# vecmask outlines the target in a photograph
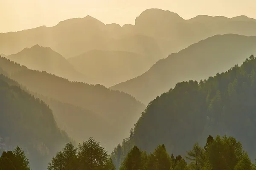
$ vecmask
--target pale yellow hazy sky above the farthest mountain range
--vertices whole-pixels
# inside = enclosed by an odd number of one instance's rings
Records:
[[[0,32],[55,26],[87,15],[105,24],[134,24],[147,8],[174,11],[184,19],[198,14],[256,18],[256,0],[0,0]]]

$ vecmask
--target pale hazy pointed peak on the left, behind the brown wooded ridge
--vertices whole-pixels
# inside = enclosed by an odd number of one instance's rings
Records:
[[[67,59],[49,47],[34,45],[31,48],[24,48],[17,54],[9,55],[8,58],[30,69],[47,71],[71,81],[88,81],[83,74],[73,68]]]

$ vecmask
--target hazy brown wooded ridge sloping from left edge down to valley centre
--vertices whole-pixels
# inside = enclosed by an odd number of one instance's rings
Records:
[[[29,91],[56,100],[56,102],[47,102],[47,100],[46,102],[52,106],[57,117],[62,114],[61,112],[64,112],[64,108],[67,108],[67,110],[63,114],[70,114],[71,117],[80,114],[79,117],[84,117],[85,119],[85,115],[81,114],[90,115],[95,113],[96,115],[87,117],[88,121],[92,121],[90,125],[95,126],[90,128],[100,129],[97,136],[101,134],[102,137],[105,137],[101,142],[106,145],[108,150],[111,150],[115,144],[121,142],[120,140],[125,137],[125,132],[129,132],[145,108],[145,105],[129,94],[113,91],[102,85],[70,82],[45,71],[30,70],[3,57],[0,58],[0,68],[9,74],[12,79],[26,86]],[[75,106],[79,106],[83,110],[79,111],[79,108],[73,110]],[[69,112],[72,110],[76,111],[76,113]],[[93,120],[97,116],[101,119],[94,122]],[[65,122],[69,122],[71,118],[64,116],[62,119],[65,119]],[[102,120],[104,120],[105,124],[101,124]],[[73,122],[69,122],[68,126],[77,131],[76,134],[70,134],[70,136],[77,136],[77,133],[80,133],[81,138],[79,140],[82,138],[86,140],[88,134],[91,134],[89,133],[90,128],[76,129],[79,126],[75,127]],[[117,126],[118,128],[116,128]],[[87,125],[82,127],[85,128]],[[88,133],[86,133],[87,131]],[[102,134],[102,132],[105,133]]]

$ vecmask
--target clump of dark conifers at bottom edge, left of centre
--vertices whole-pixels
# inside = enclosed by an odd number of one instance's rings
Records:
[[[48,170],[115,170],[108,152],[92,137],[74,147],[67,143],[48,164]]]

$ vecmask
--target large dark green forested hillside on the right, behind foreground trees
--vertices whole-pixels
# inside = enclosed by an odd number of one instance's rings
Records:
[[[200,82],[178,82],[150,102],[130,137],[116,150],[135,144],[153,152],[165,144],[168,153],[185,155],[192,143],[204,144],[209,134],[234,136],[251,158],[256,146],[256,58]]]

